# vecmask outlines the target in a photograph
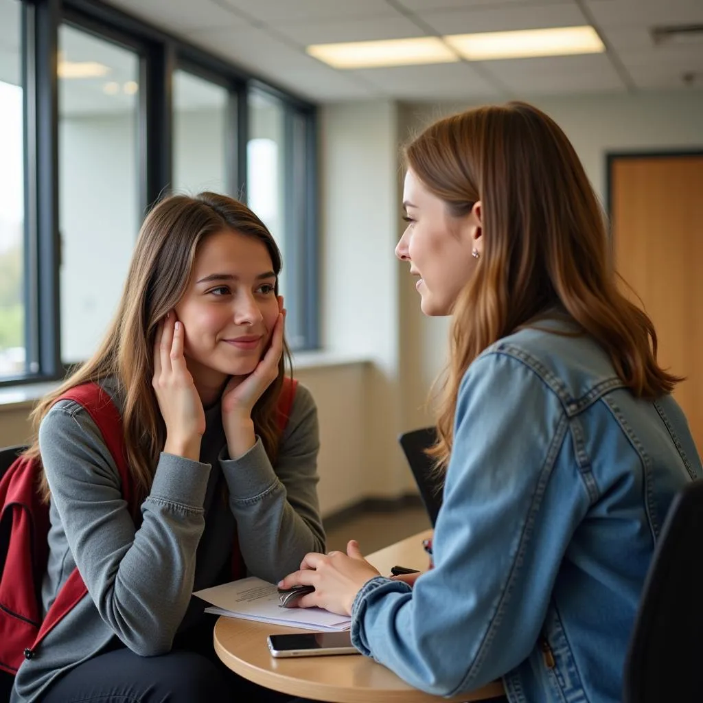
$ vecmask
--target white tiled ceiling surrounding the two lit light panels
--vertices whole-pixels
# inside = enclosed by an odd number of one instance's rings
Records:
[[[703,25],[703,0],[112,0],[316,101],[437,100],[703,86],[703,42],[657,46],[659,25]],[[336,41],[593,24],[605,54],[335,70]]]

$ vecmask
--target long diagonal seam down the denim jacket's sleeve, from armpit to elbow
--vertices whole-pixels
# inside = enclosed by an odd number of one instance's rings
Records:
[[[549,482],[549,478],[554,469],[555,460],[557,456],[559,456],[559,450],[566,437],[568,425],[568,418],[564,414],[562,415],[562,418],[557,424],[553,440],[550,444],[549,451],[547,453],[542,470],[540,472],[537,486],[534,490],[534,493],[532,494],[531,504],[527,512],[527,517],[525,518],[524,524],[522,526],[522,534],[520,536],[520,541],[517,545],[515,557],[513,557],[512,560],[510,574],[508,575],[508,579],[505,583],[505,586],[503,586],[501,598],[498,602],[498,605],[496,605],[496,609],[491,616],[491,620],[489,621],[488,626],[486,627],[486,633],[484,634],[482,642],[479,645],[478,652],[474,658],[474,661],[472,662],[472,664],[470,664],[469,669],[465,673],[465,676],[463,676],[463,678],[461,679],[459,685],[455,688],[455,690],[453,690],[453,692],[451,692],[450,695],[458,695],[463,690],[469,688],[471,682],[479,675],[482,664],[484,663],[484,659],[488,654],[489,647],[496,636],[496,631],[501,626],[501,623],[503,621],[503,611],[505,610],[505,601],[510,598],[512,588],[515,587],[517,574],[518,572],[520,572],[520,567],[522,567],[524,553],[525,550],[527,550],[527,546],[529,544],[532,531],[534,529],[535,515],[541,505],[542,498],[544,497],[544,494],[546,492],[546,487]]]

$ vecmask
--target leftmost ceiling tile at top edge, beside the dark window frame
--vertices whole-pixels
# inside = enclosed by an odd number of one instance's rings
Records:
[[[172,32],[246,24],[246,20],[212,0],[197,3],[189,0],[112,0],[111,4]]]

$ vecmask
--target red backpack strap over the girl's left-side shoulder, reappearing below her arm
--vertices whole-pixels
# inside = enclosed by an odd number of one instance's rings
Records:
[[[110,454],[112,454],[112,458],[117,464],[117,470],[120,472],[122,496],[127,501],[130,512],[134,515],[134,505],[132,505],[134,490],[131,484],[131,476],[129,475],[127,455],[124,451],[122,417],[112,402],[110,395],[97,383],[86,383],[68,390],[57,399],[57,401],[59,400],[76,401],[83,406],[91,416],[93,423],[97,425],[98,430],[103,435],[105,445],[110,450]],[[54,600],[46,613],[46,617],[39,628],[37,639],[32,645],[32,650],[36,649],[41,640],[58,625],[86,593],[88,593],[88,588],[86,588],[81,574],[79,574],[77,568],[73,569],[56,595],[56,600]],[[25,656],[27,656],[27,652],[25,652]]]

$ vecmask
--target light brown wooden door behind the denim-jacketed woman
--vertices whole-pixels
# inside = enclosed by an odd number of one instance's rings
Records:
[[[703,455],[703,155],[610,159],[614,250],[659,338]],[[632,299],[632,298],[631,298]]]

